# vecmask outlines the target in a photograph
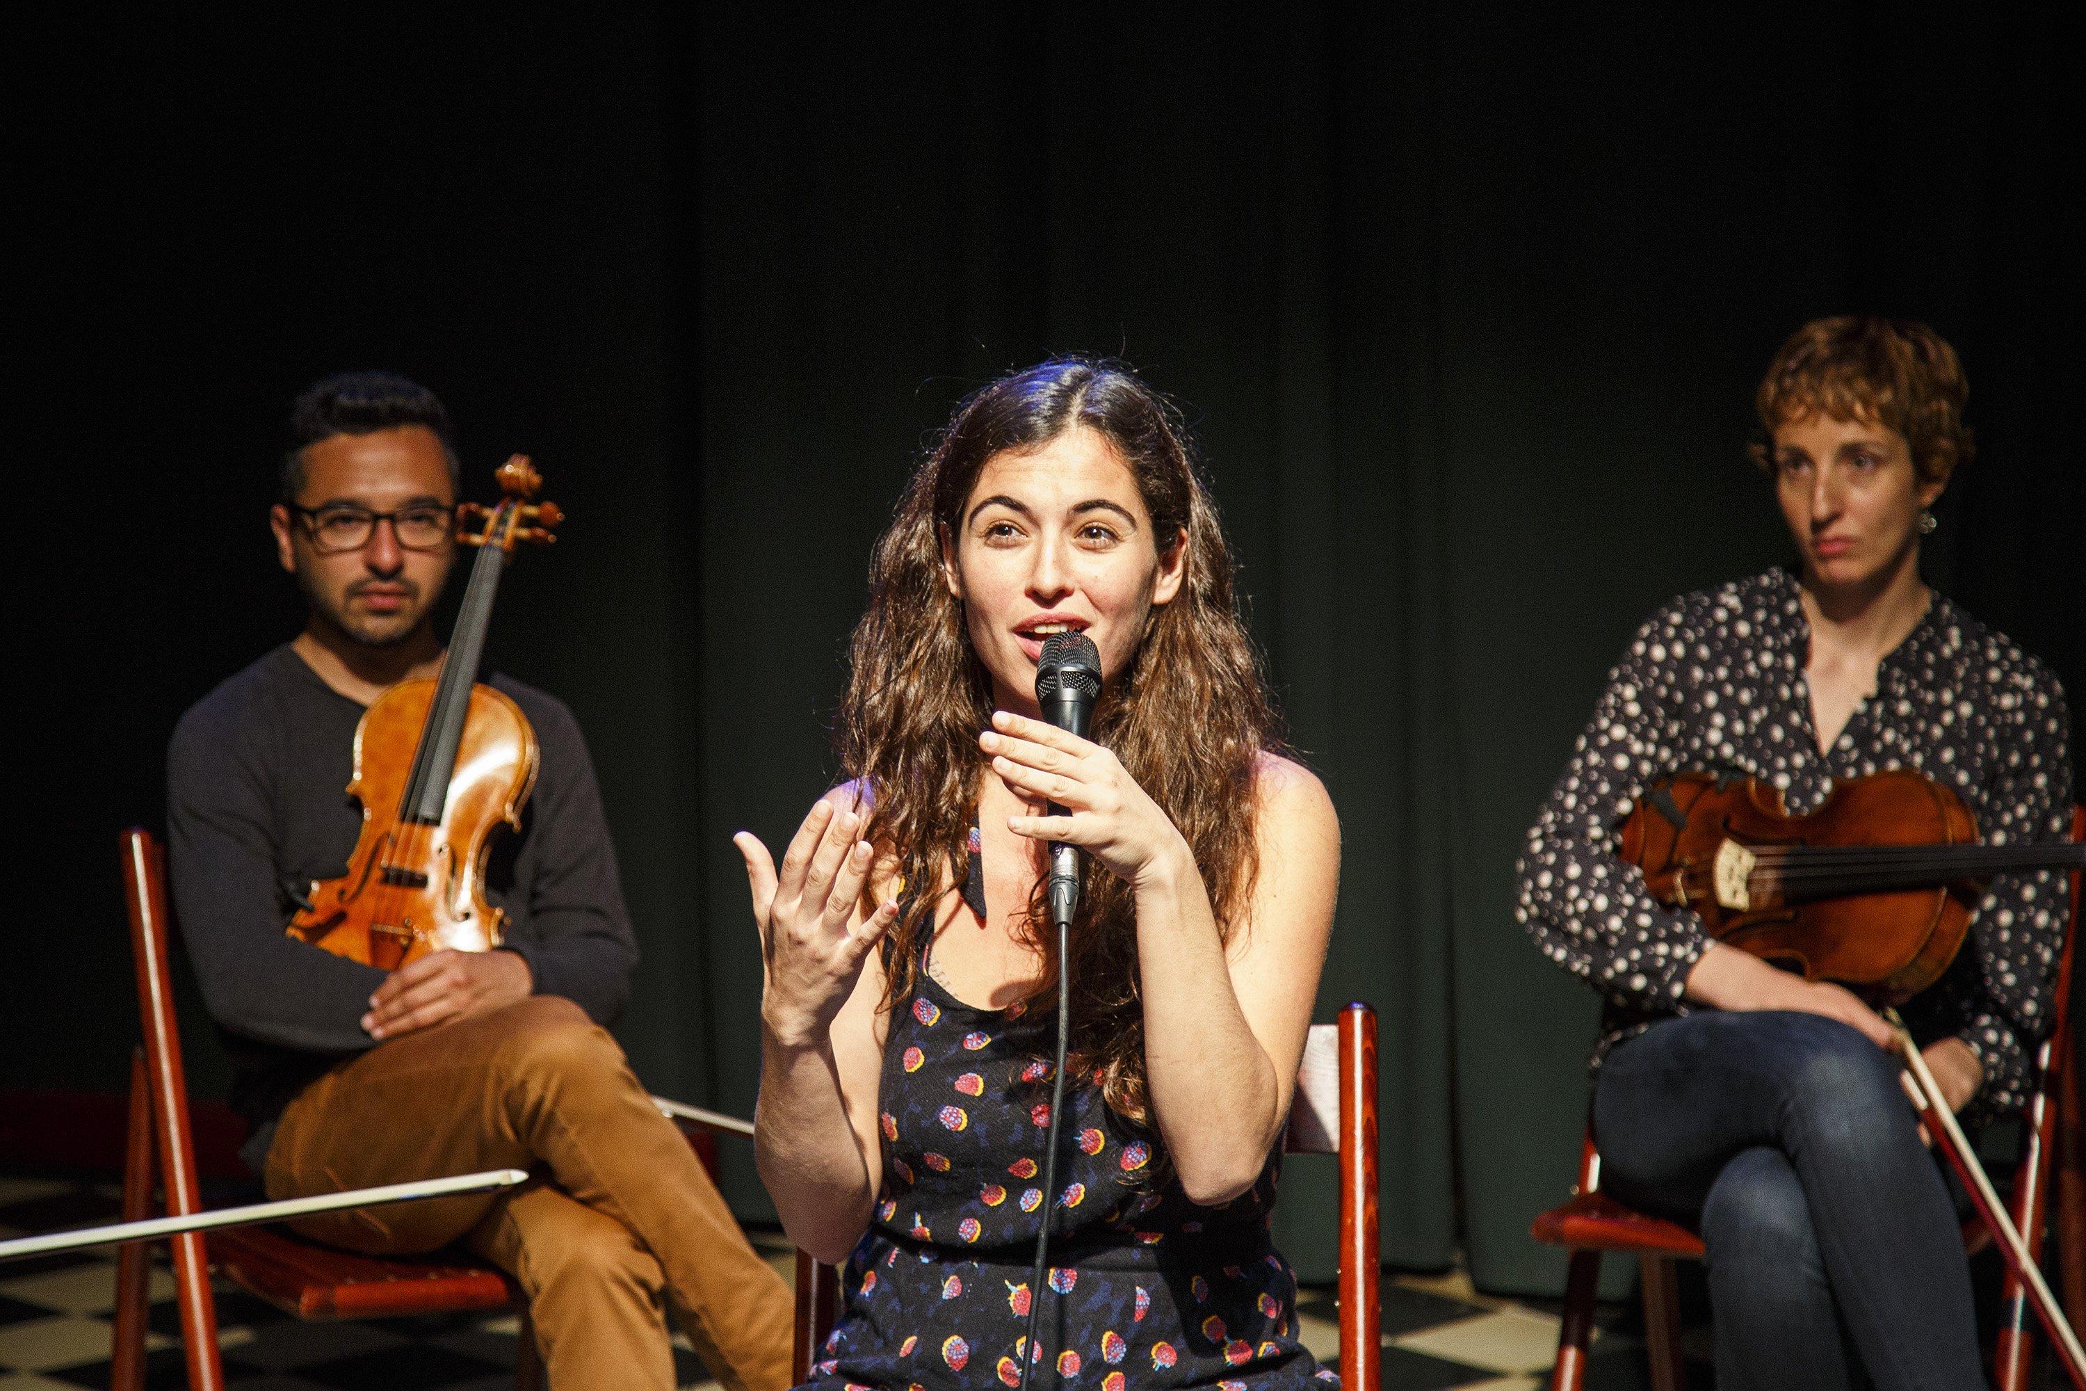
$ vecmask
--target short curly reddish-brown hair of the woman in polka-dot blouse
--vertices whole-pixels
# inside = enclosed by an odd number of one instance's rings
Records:
[[[1946,484],[1973,453],[1963,402],[1969,380],[1948,340],[1925,323],[1877,315],[1813,319],[1775,350],[1754,405],[1761,436],[1746,450],[1773,465],[1779,425],[1806,415],[1861,419],[1905,436],[1921,484]]]

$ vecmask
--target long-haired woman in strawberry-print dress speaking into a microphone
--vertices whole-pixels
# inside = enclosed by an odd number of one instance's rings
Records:
[[[1072,630],[1101,655],[1091,738],[1035,699]],[[876,546],[851,665],[851,782],[780,870],[738,836],[759,1170],[845,1264],[811,1385],[1016,1385],[1024,1356],[1037,1387],[1331,1381],[1268,1210],[1339,828],[1281,755],[1179,415],[1085,361],[970,396]],[[1049,840],[1085,861],[1056,1193]]]

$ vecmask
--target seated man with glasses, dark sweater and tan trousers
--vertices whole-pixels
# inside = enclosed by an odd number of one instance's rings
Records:
[[[315,1218],[371,1253],[463,1241],[513,1272],[559,1391],[676,1385],[672,1316],[732,1391],[789,1385],[791,1295],[701,1162],[647,1101],[605,1024],[636,941],[595,770],[559,701],[480,674],[528,715],[542,763],[494,845],[499,951],[390,976],[284,932],[311,880],[346,872],[355,728],[432,678],[432,611],[457,546],[448,415],[390,373],[305,392],[269,513],[305,630],[190,709],[167,757],[171,878],[202,997],[234,1064],[246,1157],[269,1197],[517,1166],[547,1182]]]

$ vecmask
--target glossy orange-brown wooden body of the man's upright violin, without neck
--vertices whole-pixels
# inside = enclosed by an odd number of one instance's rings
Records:
[[[355,726],[355,780],[363,830],[338,880],[311,886],[311,907],[290,934],[334,955],[396,970],[430,951],[492,951],[505,913],[486,903],[492,832],[522,830],[540,751],[522,707],[492,686],[471,686],[442,820],[386,817],[401,805],[413,749],[428,724],[436,682],[401,682]]]

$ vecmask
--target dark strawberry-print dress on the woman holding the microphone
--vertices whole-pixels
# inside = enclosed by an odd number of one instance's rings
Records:
[[[918,972],[884,1045],[884,1187],[807,1385],[1014,1387],[1026,1351],[1037,1391],[1337,1387],[1295,1339],[1295,1274],[1268,1241],[1281,1151],[1252,1191],[1197,1207],[1154,1178],[1158,1137],[1068,1078],[1058,1193],[1043,1193],[1056,1022],[1053,1007],[972,1009]]]

